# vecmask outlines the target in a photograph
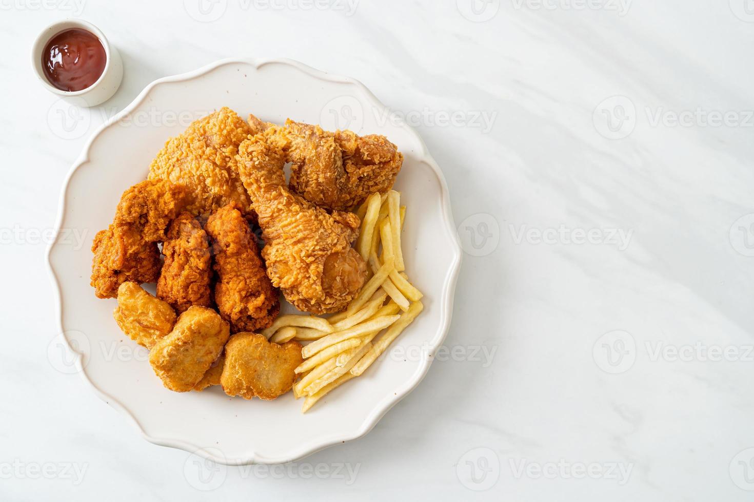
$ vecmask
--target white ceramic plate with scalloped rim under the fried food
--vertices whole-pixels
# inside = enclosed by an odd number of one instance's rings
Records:
[[[220,388],[167,391],[146,349],[113,321],[115,300],[98,300],[89,285],[91,240],[112,220],[121,193],[146,178],[168,137],[222,106],[244,118],[253,112],[277,123],[291,117],[329,130],[383,134],[406,157],[396,183],[408,206],[403,249],[406,270],[425,294],[425,310],[394,342],[392,356],[305,415],[292,394],[265,402],[229,398]],[[88,141],[67,178],[57,225],[48,260],[60,294],[60,331],[80,354],[76,370],[147,440],[223,464],[294,461],[371,430],[427,373],[449,328],[461,264],[446,182],[421,138],[390,120],[388,109],[359,82],[290,60],[222,60],[150,84]],[[86,233],[86,245],[73,245],[73,232]],[[285,434],[270,434],[273,429]]]

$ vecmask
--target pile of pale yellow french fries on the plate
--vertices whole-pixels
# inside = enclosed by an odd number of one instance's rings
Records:
[[[282,315],[262,331],[275,343],[308,342],[304,362],[296,368],[301,379],[293,385],[296,399],[305,397],[302,412],[364,373],[424,308],[421,292],[404,272],[400,232],[406,207],[400,205],[400,193],[372,193],[357,214],[356,248],[369,263],[370,277],[348,309],[329,318]]]

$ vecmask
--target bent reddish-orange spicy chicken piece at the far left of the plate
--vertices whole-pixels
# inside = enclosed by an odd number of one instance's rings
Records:
[[[185,187],[167,181],[142,181],[123,193],[112,224],[94,237],[90,284],[97,297],[115,298],[125,281],[157,281],[162,266],[157,242],[187,198]]]

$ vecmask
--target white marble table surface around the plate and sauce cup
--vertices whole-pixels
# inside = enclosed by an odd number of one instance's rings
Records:
[[[69,16],[125,76],[66,139],[29,48]],[[0,499],[751,500],[751,0],[2,0],[0,45]],[[370,434],[201,491],[51,364],[44,252],[87,132],[228,56],[404,114],[467,252],[445,357]]]

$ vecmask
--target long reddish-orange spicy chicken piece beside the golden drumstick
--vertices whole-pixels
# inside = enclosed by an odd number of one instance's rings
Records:
[[[260,330],[280,313],[280,294],[272,287],[259,257],[259,246],[241,208],[228,204],[205,226],[213,239],[215,302],[231,331]]]

